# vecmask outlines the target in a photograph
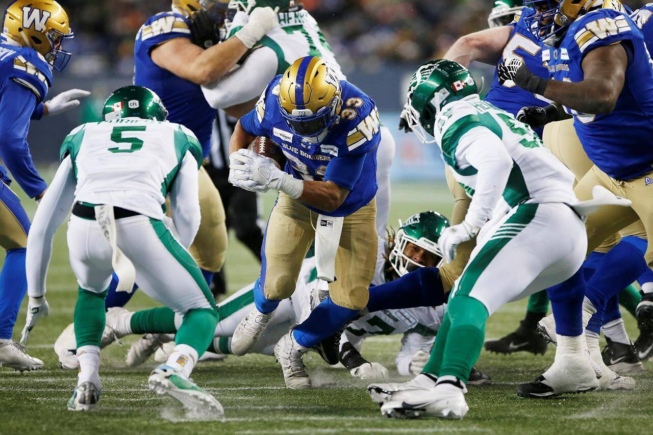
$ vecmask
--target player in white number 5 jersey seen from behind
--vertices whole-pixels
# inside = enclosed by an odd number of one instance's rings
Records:
[[[137,279],[147,295],[183,317],[174,351],[151,372],[150,389],[185,408],[223,413],[219,402],[189,379],[218,321],[208,285],[187,251],[200,221],[202,148],[189,129],[165,122],[166,116],[150,89],[114,91],[104,103],[104,121],[82,124],[63,141],[61,165],[34,217],[27,240],[28,292],[30,300],[45,304],[52,238],[72,208],[68,248],[79,283],[74,312],[79,374],[68,401],[72,411],[92,410],[100,398],[104,297],[115,271],[121,284]],[[167,227],[162,211],[168,195],[176,231]],[[27,324],[33,327],[39,317],[28,311]]]

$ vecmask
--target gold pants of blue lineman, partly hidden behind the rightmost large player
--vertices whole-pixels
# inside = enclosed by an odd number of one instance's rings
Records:
[[[573,120],[556,121],[547,124],[544,127],[542,138],[550,152],[573,172],[577,183],[594,166],[594,163],[582,149],[581,141],[576,135],[576,129],[573,127]],[[607,252],[619,242],[621,237],[626,236],[646,238],[646,231],[642,221],[637,219],[628,227],[620,229],[618,233],[609,234],[603,243],[596,248],[596,251]]]

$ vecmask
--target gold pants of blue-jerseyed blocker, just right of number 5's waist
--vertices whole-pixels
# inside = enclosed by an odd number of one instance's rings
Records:
[[[218,272],[225,263],[227,252],[225,208],[206,169],[201,167],[197,175],[202,219],[189,251],[200,268]]]

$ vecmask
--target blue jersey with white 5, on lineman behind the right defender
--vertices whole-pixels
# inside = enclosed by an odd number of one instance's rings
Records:
[[[499,63],[503,61],[504,57],[521,57],[526,62],[530,71],[542,78],[549,78],[549,70],[544,64],[540,53],[541,46],[539,41],[535,39],[526,24],[524,24],[524,19],[533,14],[534,10],[528,7],[523,8],[515,14],[515,20],[509,24],[513,27],[513,30],[510,33],[507,44],[503,48]],[[485,101],[513,115],[517,115],[519,109],[524,106],[547,106],[552,103],[544,97],[529,91],[524,91],[524,89],[515,85],[512,80],[504,84],[499,84],[496,70],[494,71],[492,86],[487,95],[485,95]],[[544,127],[535,129],[535,133],[539,137],[542,137],[543,130]]]

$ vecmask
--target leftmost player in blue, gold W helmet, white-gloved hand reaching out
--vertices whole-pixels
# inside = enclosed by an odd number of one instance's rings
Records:
[[[61,71],[71,54],[63,49],[72,38],[68,16],[54,0],[16,0],[8,5],[0,35],[0,157],[30,198],[37,202],[47,185],[34,167],[27,145],[30,119],[54,115],[80,104],[89,92],[65,91],[46,101],[52,69]],[[0,272],[0,365],[37,370],[43,362],[14,342],[12,332],[27,291],[25,255],[29,218],[11,191],[11,179],[0,166],[0,246],[6,251]],[[41,305],[38,301],[33,306]],[[47,310],[47,307],[42,307]],[[27,331],[24,331],[25,337]],[[24,342],[24,339],[21,340]]]

